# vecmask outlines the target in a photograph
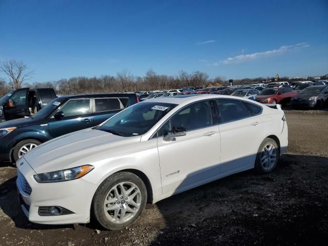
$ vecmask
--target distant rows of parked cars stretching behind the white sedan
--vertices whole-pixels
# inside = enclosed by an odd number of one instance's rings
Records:
[[[201,89],[183,88],[181,90],[151,91],[139,94],[140,100],[148,100],[157,97],[170,97],[183,94],[219,94],[244,97],[256,100],[262,104],[290,104],[293,108],[317,107],[321,108],[328,98],[328,81],[320,80],[298,81],[288,83],[286,81],[247,86],[223,86]]]

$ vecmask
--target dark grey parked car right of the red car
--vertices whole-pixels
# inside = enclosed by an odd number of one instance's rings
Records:
[[[328,86],[311,86],[300,91],[291,99],[291,106],[322,108],[328,100]]]

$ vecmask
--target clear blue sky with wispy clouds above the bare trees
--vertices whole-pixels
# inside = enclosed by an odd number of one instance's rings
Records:
[[[0,0],[0,61],[9,59],[23,60],[31,81],[124,69],[327,74],[328,1]]]

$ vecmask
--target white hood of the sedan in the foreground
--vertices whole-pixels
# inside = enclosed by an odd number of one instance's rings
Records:
[[[89,128],[45,142],[23,158],[36,173],[52,172],[127,153],[132,150],[129,146],[140,139],[141,136],[121,137]]]

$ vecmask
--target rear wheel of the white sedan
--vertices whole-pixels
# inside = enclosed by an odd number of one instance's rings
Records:
[[[265,138],[257,152],[255,170],[261,174],[272,172],[277,166],[278,158],[277,142],[272,138]]]

